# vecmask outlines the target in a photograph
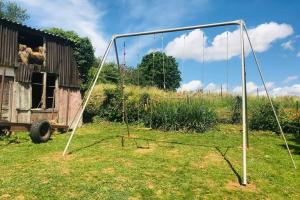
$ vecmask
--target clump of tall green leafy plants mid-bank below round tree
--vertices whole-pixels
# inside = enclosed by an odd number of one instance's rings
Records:
[[[196,100],[159,101],[146,112],[145,125],[155,129],[204,132],[217,123],[217,116]]]

